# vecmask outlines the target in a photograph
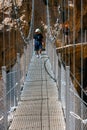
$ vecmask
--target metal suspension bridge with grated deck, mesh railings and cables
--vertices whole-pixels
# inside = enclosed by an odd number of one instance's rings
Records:
[[[5,64],[2,66],[0,130],[87,129],[87,98],[83,99],[84,95],[87,97],[87,93],[83,88],[82,70],[83,58],[86,57],[83,56],[83,50],[86,53],[87,42],[85,40],[84,43],[75,44],[74,32],[73,44],[63,46],[62,37],[62,40],[58,39],[62,46],[57,48],[55,39],[58,38],[60,29],[52,36],[48,3],[47,0],[46,48],[42,51],[41,58],[37,58],[33,47],[35,1],[32,0],[31,23],[28,36],[25,37],[20,24],[17,1],[13,0],[13,12],[24,46],[22,55],[17,53],[15,65],[9,72],[6,71]],[[73,12],[75,13],[75,10]],[[81,82],[77,80],[75,73],[75,56],[78,52],[76,48],[81,51]],[[79,86],[80,94],[76,86]]]

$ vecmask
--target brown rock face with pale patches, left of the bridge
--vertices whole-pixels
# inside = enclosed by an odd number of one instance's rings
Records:
[[[17,14],[15,10],[17,9]],[[14,65],[17,52],[22,54],[24,42],[19,29],[27,37],[31,18],[31,1],[18,0],[16,5],[12,0],[0,0],[0,72],[6,65],[7,71]],[[17,20],[20,19],[20,28]]]

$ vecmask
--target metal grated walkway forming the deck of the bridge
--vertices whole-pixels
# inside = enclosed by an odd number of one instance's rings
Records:
[[[56,83],[47,74],[42,58],[33,55],[21,94],[21,101],[9,130],[65,130],[61,103],[58,101]],[[49,60],[48,72],[53,76]]]

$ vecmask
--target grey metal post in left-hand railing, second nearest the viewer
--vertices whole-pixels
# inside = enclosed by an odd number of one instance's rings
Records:
[[[20,54],[17,53],[17,80],[18,80],[18,88],[17,88],[17,94],[18,94],[18,101],[20,101]]]

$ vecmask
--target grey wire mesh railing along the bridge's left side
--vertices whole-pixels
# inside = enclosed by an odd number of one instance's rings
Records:
[[[0,129],[7,130],[12,119],[13,113],[20,101],[20,94],[26,79],[27,70],[32,57],[32,41],[26,47],[24,53],[20,56],[17,53],[16,64],[6,72],[6,67],[2,67],[2,79],[0,81]]]

